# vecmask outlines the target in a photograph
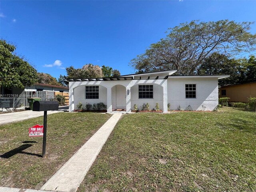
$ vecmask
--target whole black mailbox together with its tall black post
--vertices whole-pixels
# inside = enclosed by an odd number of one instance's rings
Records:
[[[33,111],[44,112],[44,135],[43,135],[42,158],[45,157],[45,150],[46,150],[47,111],[51,111],[51,110],[59,110],[59,103],[57,101],[35,101],[33,104]]]

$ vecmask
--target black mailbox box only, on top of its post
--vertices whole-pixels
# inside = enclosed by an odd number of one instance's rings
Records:
[[[35,101],[33,103],[33,111],[51,111],[59,110],[57,101]]]

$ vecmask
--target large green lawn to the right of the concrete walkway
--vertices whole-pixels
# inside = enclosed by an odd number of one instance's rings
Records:
[[[124,115],[84,191],[256,191],[256,113]]]

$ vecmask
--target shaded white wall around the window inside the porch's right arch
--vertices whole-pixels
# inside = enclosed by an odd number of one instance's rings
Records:
[[[143,85],[143,84],[140,84]],[[149,84],[147,84],[149,85]],[[149,103],[150,109],[156,109],[156,103],[159,104],[160,110],[163,109],[163,89],[162,86],[157,85],[157,84],[152,84],[153,85],[153,99],[139,99],[139,88],[138,85],[134,85],[131,87],[131,108],[133,110],[134,104],[137,104],[137,107],[141,109],[142,105],[144,103]]]

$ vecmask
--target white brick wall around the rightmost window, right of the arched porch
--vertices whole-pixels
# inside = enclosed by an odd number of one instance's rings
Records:
[[[171,110],[177,110],[180,105],[185,109],[190,105],[194,110],[214,110],[218,105],[218,78],[169,78],[168,103]],[[196,84],[196,98],[186,98],[185,84]]]

